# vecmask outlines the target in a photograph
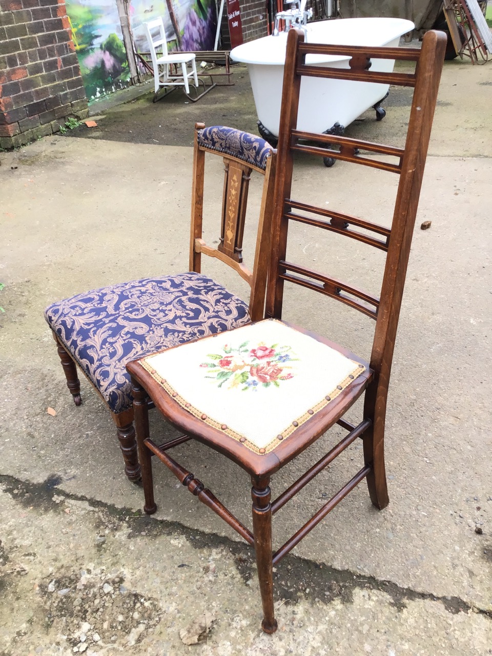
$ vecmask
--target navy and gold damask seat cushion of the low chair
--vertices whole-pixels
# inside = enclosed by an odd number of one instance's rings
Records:
[[[114,413],[133,403],[127,362],[250,321],[243,300],[192,272],[78,294],[45,318]]]

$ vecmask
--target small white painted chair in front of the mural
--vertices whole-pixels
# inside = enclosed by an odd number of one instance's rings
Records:
[[[152,68],[154,68],[154,91],[157,94],[161,87],[184,87],[187,94],[190,93],[188,80],[193,77],[195,87],[198,87],[198,75],[196,72],[195,55],[192,52],[167,52],[167,39],[164,23],[161,17],[144,23],[147,41],[150,47]],[[182,74],[171,75],[171,64],[177,67],[180,64]],[[186,64],[191,64],[192,70],[188,73]]]

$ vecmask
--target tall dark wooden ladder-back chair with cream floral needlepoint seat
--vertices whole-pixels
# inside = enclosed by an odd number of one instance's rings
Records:
[[[302,32],[289,31],[280,121],[284,129],[277,151],[272,260],[266,294],[267,318],[127,365],[133,378],[145,512],[151,514],[156,508],[150,458],[154,453],[200,501],[236,529],[247,543],[255,546],[263,606],[262,628],[267,633],[277,628],[273,566],[362,480],[367,480],[371,501],[377,508],[388,504],[383,453],[386,396],[445,45],[445,35],[436,31],[426,33],[420,51],[304,43]],[[326,55],[327,59],[313,66],[306,63],[306,56],[311,53]],[[348,68],[329,65],[329,56],[340,53],[346,54]],[[415,72],[371,71],[371,58],[416,62]],[[325,137],[326,146],[305,144],[306,140],[319,142],[320,136],[296,129],[300,81],[304,75],[415,87],[405,148],[331,134]],[[340,146],[340,151],[330,144]],[[398,174],[400,182],[391,230],[293,199],[291,181],[296,152],[320,157],[329,155]],[[387,163],[373,154],[393,155],[396,163]],[[308,213],[317,216],[310,218]],[[384,251],[386,265],[380,298],[287,262],[291,220],[358,239]],[[375,319],[370,362],[325,337],[281,321],[286,281],[340,300]],[[362,419],[352,424],[344,415],[364,392]],[[186,436],[160,447],[150,438],[148,396],[174,426],[186,432]],[[272,474],[334,424],[345,429],[346,436],[271,501]],[[190,438],[223,453],[250,474],[253,531],[232,516],[194,474],[169,456],[169,448]],[[272,515],[358,438],[363,440],[363,466],[295,535],[272,552]]]

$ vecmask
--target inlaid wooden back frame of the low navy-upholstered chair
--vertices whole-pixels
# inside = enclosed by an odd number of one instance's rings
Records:
[[[190,270],[201,272],[201,255],[216,258],[236,271],[251,287],[249,314],[253,321],[263,318],[270,253],[270,217],[274,199],[274,179],[276,169],[276,150],[270,148],[270,156],[260,166],[254,161],[243,161],[234,154],[209,148],[199,142],[200,131],[205,129],[203,123],[195,124],[193,188],[192,188],[192,222],[190,234]],[[258,137],[258,141],[261,141]],[[268,146],[268,144],[266,144]],[[214,248],[202,238],[203,230],[203,191],[205,185],[205,154],[220,155],[224,159],[224,192],[220,237],[218,247]],[[243,235],[247,210],[247,199],[251,172],[258,171],[264,176],[263,192],[256,237],[255,260],[253,271],[243,264]],[[268,216],[268,220],[265,217]]]

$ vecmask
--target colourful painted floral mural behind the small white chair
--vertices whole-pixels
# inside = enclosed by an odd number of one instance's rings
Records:
[[[123,6],[128,14],[121,20],[130,28],[136,52],[148,52],[143,24],[159,16],[169,50],[213,49],[215,0],[131,0]],[[96,100],[127,87],[133,52],[125,51],[116,0],[67,0],[66,7],[87,98]]]

